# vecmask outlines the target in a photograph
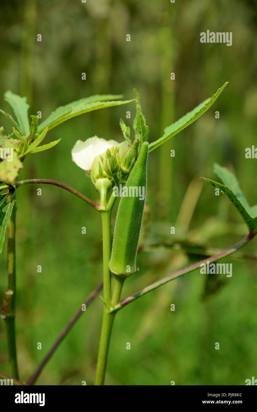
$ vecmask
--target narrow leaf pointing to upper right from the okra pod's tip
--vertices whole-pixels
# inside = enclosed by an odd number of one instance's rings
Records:
[[[164,130],[164,135],[149,145],[149,152],[152,152],[152,150],[162,145],[164,142],[166,142],[166,140],[175,136],[175,134],[185,129],[185,127],[189,126],[189,124],[193,123],[196,119],[203,115],[203,113],[205,113],[206,110],[208,110],[208,108],[210,108],[210,106],[215,102],[215,100],[220,95],[222,90],[224,90],[227,84],[228,82],[223,84],[223,86],[216,91],[213,97],[208,98],[203,103],[199,104],[196,108],[194,108],[194,110],[187,113],[185,116],[181,117],[181,119],[179,119],[177,122],[171,124],[171,126],[166,127],[166,129]]]

